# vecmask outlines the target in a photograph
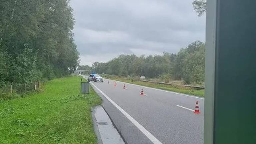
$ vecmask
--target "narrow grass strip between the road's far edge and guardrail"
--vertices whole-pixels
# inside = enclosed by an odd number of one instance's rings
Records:
[[[143,81],[133,81],[133,82],[131,82],[131,80],[124,79],[124,78],[118,78],[118,77],[112,77],[110,79],[117,80],[117,81],[122,81],[122,82],[127,82],[127,83],[132,83],[132,84],[137,84],[137,85],[142,85],[142,86],[147,86],[147,87],[152,87],[152,88],[157,88],[157,89],[163,89],[163,90],[168,90],[168,91],[174,91],[174,92],[179,92],[179,93],[204,97],[204,89],[196,90],[196,89],[193,89],[193,88],[187,88],[187,87],[182,87],[182,86],[156,84],[156,83],[143,82]]]

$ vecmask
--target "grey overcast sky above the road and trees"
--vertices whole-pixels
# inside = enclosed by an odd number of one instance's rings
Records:
[[[205,42],[205,15],[193,0],[71,0],[80,65],[107,62],[120,54],[177,53]]]

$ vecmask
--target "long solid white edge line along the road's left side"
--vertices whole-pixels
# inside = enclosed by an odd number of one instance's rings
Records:
[[[98,87],[91,83],[105,98],[107,98],[121,113],[123,113],[149,140],[154,144],[162,144],[156,137],[154,137],[148,130],[146,130],[140,123],[138,123],[132,116],[124,111],[119,105],[112,101],[105,93],[103,93]]]

